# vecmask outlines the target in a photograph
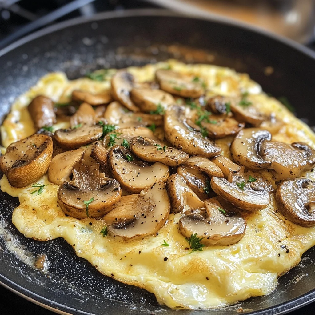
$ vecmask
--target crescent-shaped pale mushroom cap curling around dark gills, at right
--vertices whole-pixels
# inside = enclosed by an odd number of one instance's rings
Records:
[[[236,163],[249,169],[266,169],[271,165],[271,162],[261,156],[261,146],[270,140],[271,134],[267,130],[243,129],[230,146],[231,155]]]

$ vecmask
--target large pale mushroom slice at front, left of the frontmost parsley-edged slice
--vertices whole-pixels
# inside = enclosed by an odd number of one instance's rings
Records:
[[[168,219],[169,210],[165,185],[159,181],[140,195],[123,196],[104,220],[109,235],[127,241],[156,234]]]

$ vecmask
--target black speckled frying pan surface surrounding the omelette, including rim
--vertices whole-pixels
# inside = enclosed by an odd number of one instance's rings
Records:
[[[156,9],[66,21],[0,51],[0,115],[3,119],[14,99],[47,72],[64,71],[72,79],[97,68],[140,66],[170,57],[247,72],[264,91],[286,96],[299,117],[315,124],[312,51],[235,22]],[[266,67],[273,72],[266,72]],[[1,283],[61,314],[232,315],[241,307],[249,314],[273,315],[315,299],[315,250],[310,249],[267,296],[218,310],[171,310],[143,289],[102,276],[61,238],[48,242],[24,238],[11,223],[17,198],[1,192],[0,200]],[[40,254],[47,255],[47,272],[32,267]]]

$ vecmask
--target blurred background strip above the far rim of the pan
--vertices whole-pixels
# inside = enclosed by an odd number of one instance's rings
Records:
[[[239,20],[315,49],[315,0],[0,0],[0,48],[73,17],[137,8]]]

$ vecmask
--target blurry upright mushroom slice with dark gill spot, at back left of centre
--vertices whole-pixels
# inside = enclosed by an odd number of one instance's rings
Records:
[[[121,102],[132,112],[139,112],[139,107],[135,106],[130,98],[130,91],[134,87],[134,77],[131,73],[120,70],[112,77],[112,93],[115,100]]]

